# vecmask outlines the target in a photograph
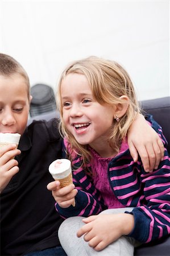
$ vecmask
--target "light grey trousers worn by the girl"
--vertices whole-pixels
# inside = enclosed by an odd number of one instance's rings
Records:
[[[131,212],[133,208],[118,208],[103,210],[100,214],[124,213],[126,210]],[[68,256],[133,256],[134,247],[140,243],[134,238],[122,236],[117,241],[110,243],[105,249],[96,251],[84,241],[84,237],[77,237],[77,231],[84,225],[84,217],[67,218],[59,228],[59,240],[61,246]]]

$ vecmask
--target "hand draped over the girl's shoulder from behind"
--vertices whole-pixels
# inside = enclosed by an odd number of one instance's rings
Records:
[[[139,153],[146,172],[157,169],[164,157],[164,144],[142,114],[138,114],[132,123],[128,131],[127,142],[134,162],[138,161]]]

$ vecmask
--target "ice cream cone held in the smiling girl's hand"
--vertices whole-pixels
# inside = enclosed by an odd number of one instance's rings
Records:
[[[68,159],[57,159],[49,166],[49,172],[53,179],[60,181],[60,188],[73,184],[71,161]],[[75,206],[75,200],[72,204]]]

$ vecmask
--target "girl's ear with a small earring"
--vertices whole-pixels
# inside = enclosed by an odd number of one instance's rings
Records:
[[[128,97],[125,95],[122,95],[121,97],[119,97],[119,99],[122,100],[122,103],[118,103],[117,105],[115,105],[115,112],[114,112],[115,119],[123,117],[123,115],[125,115],[128,109]]]

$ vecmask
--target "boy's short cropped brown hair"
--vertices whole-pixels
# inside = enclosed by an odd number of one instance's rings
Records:
[[[8,77],[14,75],[15,73],[22,76],[26,80],[28,88],[28,99],[30,100],[30,80],[27,72],[13,57],[4,53],[0,53],[0,75]]]

